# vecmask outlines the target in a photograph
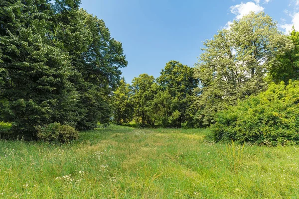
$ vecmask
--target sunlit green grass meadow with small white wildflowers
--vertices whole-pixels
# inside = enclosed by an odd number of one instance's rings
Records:
[[[206,133],[112,125],[64,145],[2,140],[0,198],[299,198],[298,146],[246,145],[233,172]]]

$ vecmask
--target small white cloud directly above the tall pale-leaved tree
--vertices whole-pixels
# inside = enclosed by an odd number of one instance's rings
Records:
[[[299,0],[298,0],[299,1]],[[236,14],[236,19],[240,19],[242,18],[244,15],[249,14],[251,11],[254,11],[255,13],[261,12],[264,10],[264,7],[260,6],[258,4],[259,0],[256,0],[257,4],[254,2],[247,2],[247,3],[243,3],[241,2],[241,4],[238,5],[234,5],[231,6],[231,12],[233,14]]]

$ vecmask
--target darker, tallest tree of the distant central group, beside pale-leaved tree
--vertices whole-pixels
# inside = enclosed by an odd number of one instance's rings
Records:
[[[160,107],[162,109],[168,107],[168,110],[163,110],[168,117],[168,126],[181,127],[181,123],[189,119],[187,109],[192,102],[193,90],[198,86],[198,79],[193,77],[193,68],[178,61],[168,62],[160,74],[157,83],[164,94],[160,93],[159,96],[171,100],[170,106],[164,104]]]

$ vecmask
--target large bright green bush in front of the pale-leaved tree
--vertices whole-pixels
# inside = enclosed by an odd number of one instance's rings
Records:
[[[211,130],[215,141],[299,144],[299,81],[273,83],[258,96],[220,111]]]

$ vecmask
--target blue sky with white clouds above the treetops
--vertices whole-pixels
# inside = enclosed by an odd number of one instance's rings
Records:
[[[299,0],[82,0],[123,43],[128,83],[142,73],[157,78],[170,60],[193,66],[217,30],[250,11],[265,11],[288,32],[299,30]]]

